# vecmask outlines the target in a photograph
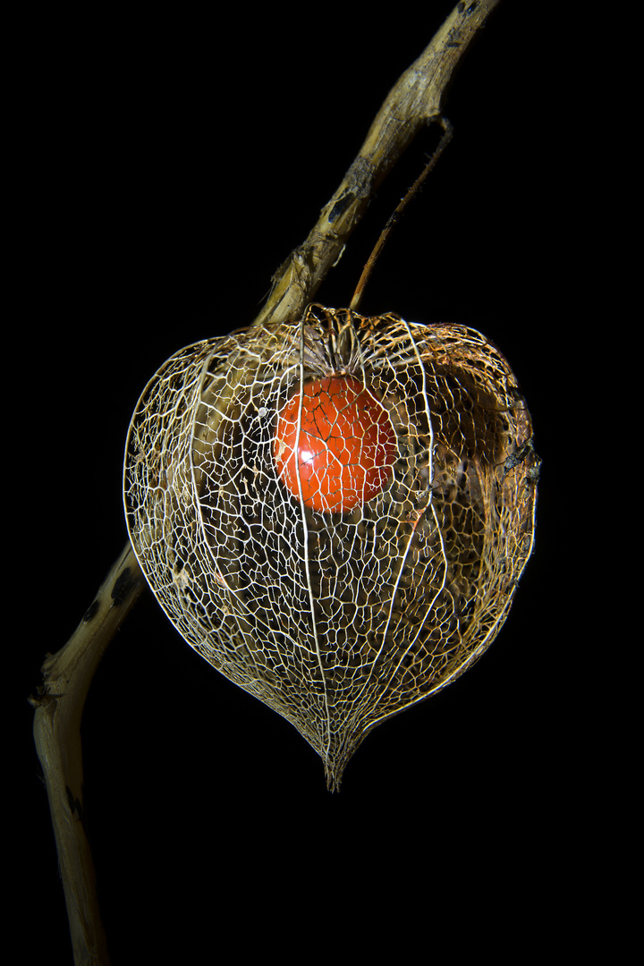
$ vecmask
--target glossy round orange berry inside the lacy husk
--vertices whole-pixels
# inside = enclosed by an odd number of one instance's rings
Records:
[[[376,497],[396,456],[396,435],[378,399],[350,376],[306,383],[303,392],[298,463],[305,505],[342,513]],[[273,441],[280,479],[297,498],[299,404],[297,392],[279,414]]]

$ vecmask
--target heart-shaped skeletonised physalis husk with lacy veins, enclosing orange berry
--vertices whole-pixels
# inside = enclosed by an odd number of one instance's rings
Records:
[[[154,375],[126,446],[132,546],[182,637],[336,788],[498,633],[533,545],[531,437],[479,332],[311,305]]]

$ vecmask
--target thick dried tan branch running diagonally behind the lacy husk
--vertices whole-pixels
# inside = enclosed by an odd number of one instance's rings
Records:
[[[440,119],[452,74],[498,2],[457,4],[432,42],[401,76],[318,223],[273,276],[271,293],[253,325],[268,320],[285,322],[301,314],[396,160],[420,128]],[[83,824],[80,721],[98,663],[144,583],[127,544],[68,643],[57,654],[47,656],[39,696],[31,699],[76,966],[109,963]]]

